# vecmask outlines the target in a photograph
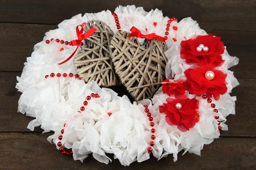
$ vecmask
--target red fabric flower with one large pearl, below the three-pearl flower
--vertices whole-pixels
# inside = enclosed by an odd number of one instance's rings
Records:
[[[208,80],[205,78],[207,71],[213,71],[214,78]],[[220,98],[220,94],[227,93],[227,74],[220,70],[216,70],[214,65],[208,64],[199,68],[189,68],[184,71],[187,78],[187,89],[190,94],[207,94],[207,96],[213,95],[215,100]]]

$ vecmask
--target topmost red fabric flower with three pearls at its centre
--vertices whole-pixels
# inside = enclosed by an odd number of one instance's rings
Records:
[[[200,44],[208,47],[209,51],[196,51]],[[186,63],[196,63],[199,66],[207,63],[221,66],[224,63],[221,54],[224,53],[225,48],[223,42],[221,42],[221,37],[197,36],[195,39],[181,41],[180,46],[180,58],[185,59]]]

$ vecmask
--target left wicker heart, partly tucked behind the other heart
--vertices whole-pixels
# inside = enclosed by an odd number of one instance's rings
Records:
[[[116,76],[110,57],[113,31],[106,23],[99,20],[88,21],[84,31],[92,27],[97,28],[97,31],[84,40],[81,51],[74,57],[76,71],[86,82],[94,80],[102,87],[119,85],[119,78]]]

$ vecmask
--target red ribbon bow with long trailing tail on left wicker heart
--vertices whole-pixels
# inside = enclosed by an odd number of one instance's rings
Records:
[[[81,30],[79,30],[79,26],[81,26]],[[78,25],[76,26],[76,35],[77,35],[77,40],[72,40],[71,44],[72,46],[77,45],[76,50],[79,48],[79,45],[81,44],[82,40],[87,39],[88,37],[90,37],[93,33],[95,33],[95,31],[97,30],[96,28],[90,28],[88,31],[86,31],[83,34],[84,31],[84,26],[85,23],[83,23],[82,25]],[[64,64],[65,62],[67,62],[68,60],[70,60],[73,55],[76,53],[76,50],[70,55],[70,57],[68,57],[67,59],[65,59],[63,62],[58,63],[58,65]]]

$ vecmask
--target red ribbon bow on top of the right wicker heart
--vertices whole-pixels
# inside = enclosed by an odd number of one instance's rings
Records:
[[[130,29],[130,31],[131,31],[131,34],[129,34],[127,37],[145,38],[147,40],[159,40],[159,41],[165,42],[164,37],[156,35],[155,33],[144,35],[140,32],[140,30],[138,28],[136,28],[134,26]]]

